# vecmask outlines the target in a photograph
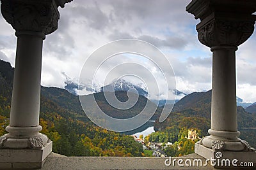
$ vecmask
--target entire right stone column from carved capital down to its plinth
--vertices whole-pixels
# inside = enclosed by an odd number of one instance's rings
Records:
[[[195,152],[208,159],[211,152],[206,148],[213,152],[254,150],[238,138],[236,50],[253,33],[255,6],[256,1],[193,0],[186,7],[196,19],[200,18],[196,25],[198,39],[212,51],[211,129],[208,131],[211,135],[195,146]]]

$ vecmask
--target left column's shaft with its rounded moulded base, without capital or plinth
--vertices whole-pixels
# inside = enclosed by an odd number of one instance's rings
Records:
[[[44,34],[17,31],[9,133],[4,148],[40,148],[48,138],[39,131],[40,81]],[[19,138],[17,139],[17,136]],[[13,140],[14,139],[14,140]]]

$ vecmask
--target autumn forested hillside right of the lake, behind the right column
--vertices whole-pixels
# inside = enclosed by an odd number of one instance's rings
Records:
[[[253,147],[256,147],[256,114],[248,113],[243,107],[237,107],[238,130],[241,131],[241,138],[248,141]],[[182,128],[198,129],[200,136],[207,136],[208,129],[211,128],[211,90],[208,92],[194,92],[182,98],[175,104],[172,113],[164,122],[159,123],[157,120],[154,129],[161,140],[167,140],[163,136],[168,136],[169,141],[177,141],[177,136]]]

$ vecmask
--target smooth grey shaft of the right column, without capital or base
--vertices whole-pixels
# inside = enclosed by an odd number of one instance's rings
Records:
[[[211,129],[237,131],[235,46],[211,48],[212,108]]]

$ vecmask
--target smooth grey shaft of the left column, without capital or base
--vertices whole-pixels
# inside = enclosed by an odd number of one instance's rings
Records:
[[[39,125],[42,64],[40,36],[18,35],[10,126]]]

